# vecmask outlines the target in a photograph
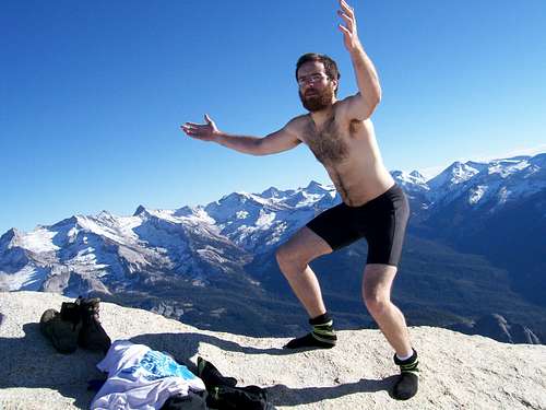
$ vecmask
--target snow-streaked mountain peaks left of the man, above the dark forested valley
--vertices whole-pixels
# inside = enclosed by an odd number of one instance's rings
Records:
[[[103,211],[31,233],[10,230],[0,238],[0,289],[109,293],[131,288],[143,273],[202,285],[239,271],[252,254],[266,253],[336,201],[332,187],[311,181],[289,191],[234,192],[204,207],[140,206],[132,216]]]

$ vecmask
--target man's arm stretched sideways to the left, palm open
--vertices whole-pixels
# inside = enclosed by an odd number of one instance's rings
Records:
[[[218,130],[216,124],[205,115],[205,124],[186,122],[180,128],[189,136],[201,141],[213,141],[235,151],[251,155],[268,155],[287,151],[301,141],[295,132],[294,120],[278,131],[266,137],[234,136]]]

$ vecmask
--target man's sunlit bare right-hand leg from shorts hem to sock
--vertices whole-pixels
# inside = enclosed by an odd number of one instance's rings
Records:
[[[363,297],[370,315],[399,356],[412,354],[404,315],[391,302],[391,288],[396,268],[367,265],[364,271]]]

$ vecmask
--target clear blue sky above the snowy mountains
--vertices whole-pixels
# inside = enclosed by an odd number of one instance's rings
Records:
[[[546,151],[546,1],[354,1],[389,169]],[[264,136],[304,113],[308,51],[356,91],[336,1],[0,2],[0,234],[105,209],[175,209],[329,183],[302,145],[250,156],[186,137],[209,113]]]

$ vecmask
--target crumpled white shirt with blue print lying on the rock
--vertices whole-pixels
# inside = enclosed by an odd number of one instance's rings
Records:
[[[205,389],[203,380],[169,355],[127,340],[115,341],[97,367],[108,379],[92,410],[161,409],[170,396]]]

